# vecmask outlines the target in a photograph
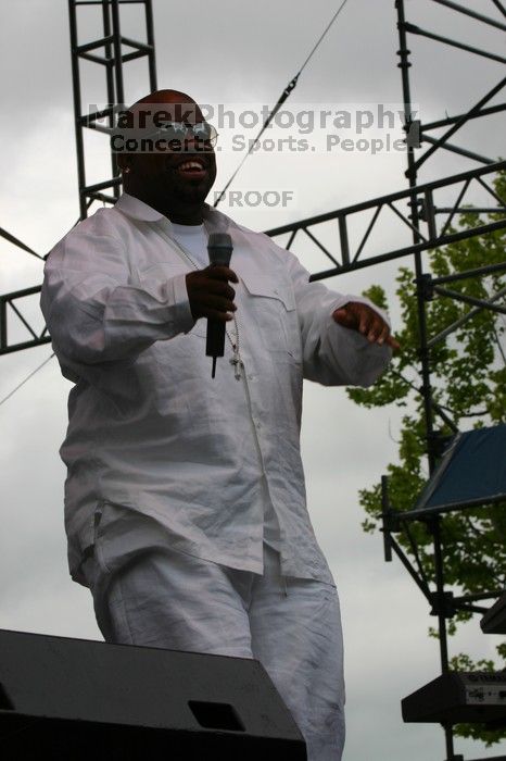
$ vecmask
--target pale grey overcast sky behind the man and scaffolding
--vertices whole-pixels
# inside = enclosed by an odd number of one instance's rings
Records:
[[[499,20],[491,0],[460,2]],[[198,101],[236,110],[248,104],[252,109],[271,107],[339,4],[329,0],[197,0],[191,4],[154,0],[159,87],[180,89]],[[406,0],[405,5],[407,18],[421,27],[505,54],[504,36],[490,26],[430,0]],[[67,8],[63,0],[3,0],[1,13],[0,226],[43,254],[78,216]],[[100,29],[94,9],[81,13],[79,41],[84,42],[94,39]],[[122,13],[124,34],[142,39],[138,11],[126,8]],[[379,104],[401,108],[395,24],[393,0],[349,0],[287,107],[293,113],[340,108],[352,114],[360,110],[376,113]],[[502,75],[498,63],[420,37],[409,39],[409,49],[412,100],[423,121],[467,110]],[[94,68],[92,64],[83,67],[85,103],[105,100],[102,71]],[[125,82],[128,102],[146,95],[146,64],[128,64]],[[505,153],[504,126],[501,116],[486,124],[473,122],[455,142],[495,159]],[[402,137],[399,123],[390,132],[396,139]],[[220,133],[217,189],[243,155],[231,148],[233,130]],[[276,139],[286,135],[281,127],[273,130]],[[248,136],[253,137],[254,130]],[[341,136],[385,139],[378,124],[362,135],[353,127]],[[91,139],[94,137],[87,141],[90,182],[106,178],[109,171],[104,139]],[[232,186],[243,195],[290,191],[290,203],[274,208],[224,203],[223,211],[254,229],[268,229],[406,187],[403,152],[374,155],[357,146],[351,151],[326,151],[327,130],[314,129],[308,137],[315,151],[256,153]],[[426,166],[420,182],[473,165],[443,153]],[[480,191],[468,200],[485,201]],[[357,222],[354,235],[363,225]],[[334,232],[325,235],[332,245]],[[409,232],[387,219],[368,251],[408,244]],[[0,292],[40,284],[40,261],[7,242],[1,249]],[[328,267],[328,261],[308,241],[301,242],[296,252],[312,272]],[[328,285],[341,292],[359,292],[369,283],[382,283],[392,299],[395,327],[394,277],[395,265],[391,264],[336,277]],[[37,301],[27,309],[37,316]],[[0,398],[50,353],[47,345],[3,357]],[[90,595],[71,582],[66,566],[64,469],[58,449],[65,435],[68,390],[69,384],[52,359],[0,408],[4,475],[0,627],[101,639]],[[444,758],[443,734],[437,725],[406,725],[401,718],[401,699],[439,674],[438,645],[427,637],[434,620],[400,563],[383,562],[381,536],[365,535],[359,525],[364,516],[357,491],[377,483],[395,459],[399,424],[395,408],[367,411],[349,401],[343,389],[305,386],[302,446],[309,512],[336,576],[343,611],[346,761]],[[496,643],[497,637],[481,634],[476,617],[451,643],[451,650],[493,657]],[[456,750],[465,759],[499,752],[497,747],[485,750],[481,744],[461,740],[456,740]]]

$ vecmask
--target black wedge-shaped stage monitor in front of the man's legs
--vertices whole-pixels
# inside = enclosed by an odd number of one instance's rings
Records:
[[[260,661],[0,629],[2,759],[306,761]]]

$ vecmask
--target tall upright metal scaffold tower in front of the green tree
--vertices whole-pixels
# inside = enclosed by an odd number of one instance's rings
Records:
[[[467,15],[476,21],[477,24],[486,24],[490,26],[493,26],[502,32],[506,30],[506,24],[504,23],[504,20],[506,20],[506,9],[501,2],[501,0],[492,0],[493,5],[495,7],[496,11],[499,12],[503,21],[497,21],[495,17],[489,17],[484,16],[482,14],[476,13],[475,11],[471,11],[467,8],[464,8],[463,5],[456,3],[456,2],[450,2],[448,0],[431,0],[432,2],[439,4],[439,5],[444,5],[445,8],[450,9],[451,11],[459,14]],[[404,129],[406,132],[406,135],[409,135],[410,129],[414,126],[414,117],[412,113],[412,100],[410,100],[410,83],[409,83],[409,67],[410,67],[410,61],[409,61],[409,54],[410,51],[407,47],[407,39],[409,35],[417,35],[417,36],[422,36],[428,39],[433,40],[437,43],[445,45],[448,47],[453,47],[459,50],[464,50],[472,55],[480,55],[483,58],[486,58],[491,61],[497,62],[497,63],[506,63],[506,59],[499,55],[495,55],[494,53],[491,53],[488,50],[483,50],[473,46],[468,45],[467,42],[463,42],[461,40],[455,40],[455,39],[450,39],[446,37],[442,37],[441,35],[427,30],[427,29],[421,29],[419,26],[416,26],[414,24],[410,24],[408,21],[406,21],[405,17],[405,8],[404,8],[404,0],[395,0],[395,8],[397,11],[397,29],[399,29],[399,40],[400,40],[400,50],[397,51],[399,57],[400,57],[400,68],[402,73],[402,86],[403,86],[403,98],[404,98]],[[430,210],[430,200],[426,201],[425,207],[420,205],[419,200],[418,200],[418,191],[416,189],[417,186],[417,174],[420,167],[429,161],[434,154],[438,153],[440,150],[448,150],[454,153],[464,155],[468,159],[472,159],[477,161],[479,164],[484,164],[485,166],[492,167],[495,165],[496,171],[502,170],[504,171],[504,165],[503,166],[497,166],[497,164],[494,162],[493,159],[484,155],[479,155],[473,151],[468,150],[465,147],[457,146],[453,142],[451,142],[451,138],[465,125],[467,124],[470,120],[479,118],[479,117],[485,117],[490,116],[491,114],[495,114],[498,112],[502,112],[506,110],[506,103],[499,103],[495,105],[488,105],[490,101],[505,87],[506,85],[506,78],[502,78],[498,80],[494,87],[492,87],[489,91],[486,91],[482,97],[480,97],[476,102],[471,103],[468,111],[458,114],[456,116],[446,117],[444,120],[440,120],[438,122],[432,122],[429,124],[421,124],[421,122],[418,122],[418,124],[415,124],[417,127],[417,132],[420,135],[420,146],[426,142],[429,144],[429,148],[423,151],[420,155],[416,157],[415,155],[415,150],[416,147],[413,145],[413,141],[407,140],[407,170],[406,170],[406,177],[408,178],[409,183],[409,188],[412,190],[412,222],[413,222],[413,242],[415,247],[422,247],[423,246],[423,239],[422,239],[422,233],[421,233],[421,223],[426,222],[428,224],[433,224],[430,223],[430,219],[432,217],[432,221],[434,221],[434,214],[432,214],[432,211]],[[481,124],[483,124],[483,118],[481,121]],[[443,133],[443,135],[439,138],[433,138],[430,133],[433,129],[438,129],[441,127],[447,127],[447,129]],[[471,173],[472,179],[478,179],[481,184],[483,183],[482,180],[482,175],[480,170],[475,170]],[[467,180],[466,180],[467,182]],[[471,182],[471,179],[469,179]],[[467,186],[465,185],[463,188],[463,191],[465,192],[467,189]],[[491,190],[491,188],[488,188]],[[495,192],[493,192],[495,197]],[[495,197],[495,200],[499,203],[499,207],[504,210],[504,204],[506,202],[506,199],[498,199]],[[456,208],[454,208],[453,214],[458,213],[457,209],[459,207],[461,199],[457,200],[457,203],[455,204]],[[464,210],[467,211],[467,210]],[[492,211],[492,210],[484,210],[484,211]],[[495,210],[494,210],[495,211]],[[443,213],[443,209],[439,209],[440,213]],[[502,215],[501,222],[504,223],[504,213],[499,212]],[[442,237],[444,237],[445,232],[450,227],[450,221],[452,216],[446,220],[446,224],[443,227],[443,234]],[[504,224],[499,225],[501,227],[504,227]],[[483,230],[484,232],[484,230]],[[479,232],[478,228],[476,228],[476,235],[481,235],[482,232]],[[471,236],[468,236],[471,237]],[[446,242],[451,242],[447,240]],[[420,335],[420,346],[419,346],[419,357],[420,357],[420,374],[422,378],[422,385],[421,385],[421,394],[423,396],[423,407],[425,407],[425,423],[426,423],[426,439],[427,439],[427,456],[428,456],[428,462],[429,462],[429,471],[432,474],[437,464],[437,457],[438,457],[438,446],[439,446],[439,436],[438,432],[435,431],[435,422],[434,422],[434,415],[438,413],[441,415],[441,410],[438,409],[438,406],[434,403],[433,396],[432,396],[432,386],[431,386],[431,349],[435,344],[438,344],[440,340],[442,340],[446,335],[448,335],[451,332],[455,330],[457,327],[457,324],[447,326],[445,330],[443,330],[439,336],[433,336],[432,338],[429,338],[428,332],[427,332],[427,313],[426,313],[426,305],[427,301],[433,298],[434,294],[439,294],[440,296],[450,296],[451,298],[461,298],[460,295],[456,294],[455,291],[448,291],[445,288],[442,288],[442,285],[445,285],[446,283],[451,282],[452,279],[456,279],[454,276],[453,278],[432,278],[430,274],[423,273],[423,263],[422,263],[422,258],[421,258],[421,250],[422,248],[419,248],[418,250],[414,250],[414,267],[415,267],[415,273],[416,273],[416,283],[417,283],[417,302],[418,302],[418,325],[419,325],[419,335]],[[506,259],[506,258],[505,258]],[[503,267],[506,270],[506,263],[505,266]],[[467,273],[467,276],[469,277],[476,277],[476,276],[481,276],[483,274],[486,274],[488,267],[481,267],[480,270],[473,271],[471,273]],[[463,274],[463,276],[466,276],[466,274]],[[443,283],[444,280],[444,283]],[[489,303],[475,303],[473,308],[476,310],[479,309],[499,309],[501,311],[504,312],[504,308],[498,305],[496,302],[499,300],[499,298],[503,295],[503,289],[499,294],[496,294],[493,298],[490,299]],[[472,311],[472,310],[471,310]],[[451,423],[451,421],[445,420],[444,421],[446,424]],[[452,427],[452,425],[451,425]],[[453,429],[456,429],[456,426],[453,426]],[[461,506],[461,509],[465,509],[465,506]],[[404,514],[405,515],[405,514]],[[428,526],[431,531],[432,534],[432,540],[433,540],[433,548],[434,548],[434,577],[435,577],[435,592],[431,592],[428,588],[426,579],[423,579],[423,575],[421,574],[421,582],[420,577],[416,574],[415,570],[413,566],[410,566],[409,561],[407,560],[406,556],[402,552],[400,546],[393,540],[392,535],[391,535],[391,528],[392,528],[392,511],[389,509],[388,504],[388,492],[387,492],[387,479],[383,482],[383,536],[384,536],[384,542],[385,542],[385,559],[390,560],[391,559],[391,549],[393,548],[397,556],[400,557],[401,561],[403,562],[404,566],[408,570],[410,573],[414,581],[420,586],[421,590],[426,596],[428,597],[428,600],[432,604],[432,612],[438,616],[438,628],[439,628],[439,641],[440,641],[440,658],[441,658],[441,671],[442,673],[446,673],[448,671],[448,651],[447,651],[447,629],[446,629],[446,620],[448,617],[452,617],[455,612],[458,610],[458,604],[453,598],[452,592],[446,591],[445,589],[445,578],[444,578],[444,566],[443,566],[443,554],[442,554],[442,547],[441,547],[441,515],[440,514],[434,514],[428,520]],[[410,516],[408,520],[426,520],[427,521],[427,515],[425,517],[420,515],[416,515],[415,511],[410,511]],[[390,524],[389,524],[390,521]],[[402,522],[402,525],[407,532],[407,536],[409,537],[408,533],[408,523],[407,521]],[[397,528],[401,526],[401,524],[397,524]],[[417,558],[417,551],[416,551],[416,546],[414,546],[413,541],[412,544],[412,549],[414,551],[415,558]],[[421,565],[418,562],[419,571],[421,571]],[[492,596],[493,592],[490,594]],[[486,599],[489,595],[484,595],[484,599]],[[469,597],[464,597],[461,599],[461,606],[467,610],[470,610],[472,612],[479,612],[476,606],[472,606],[473,600],[470,600]],[[444,735],[445,735],[445,745],[446,745],[446,761],[463,761],[461,756],[455,756],[454,751],[454,737],[453,737],[453,727],[451,725],[444,725]]]

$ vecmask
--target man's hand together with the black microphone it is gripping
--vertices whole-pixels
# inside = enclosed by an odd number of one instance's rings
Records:
[[[190,309],[194,320],[207,317],[205,353],[213,358],[212,377],[215,375],[216,358],[225,351],[225,324],[233,319],[237,307],[236,291],[229,280],[238,283],[236,273],[229,269],[232,252],[231,238],[226,233],[210,235],[207,250],[210,266],[190,272],[186,277]]]

